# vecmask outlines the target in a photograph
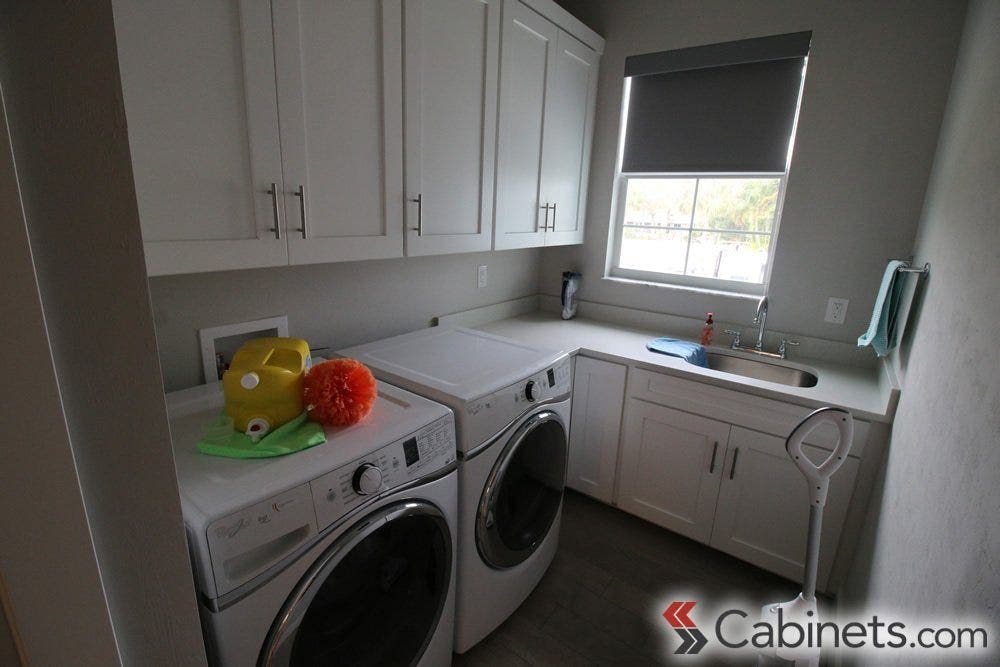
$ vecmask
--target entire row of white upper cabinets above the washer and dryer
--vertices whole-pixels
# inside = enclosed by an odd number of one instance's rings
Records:
[[[603,40],[506,0],[498,130],[504,1],[114,0],[148,273],[581,242]]]

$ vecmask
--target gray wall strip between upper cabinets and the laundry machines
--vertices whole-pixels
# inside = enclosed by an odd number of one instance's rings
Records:
[[[288,315],[313,347],[347,347],[429,326],[431,319],[535,294],[541,251],[162,276],[149,281],[167,391],[200,384],[198,329]],[[477,267],[489,284],[477,289]]]

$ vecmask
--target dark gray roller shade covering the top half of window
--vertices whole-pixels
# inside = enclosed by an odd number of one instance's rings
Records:
[[[784,171],[809,35],[627,59],[622,171]]]

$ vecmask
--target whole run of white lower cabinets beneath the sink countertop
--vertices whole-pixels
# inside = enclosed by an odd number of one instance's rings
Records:
[[[620,368],[577,359],[569,486],[607,501],[608,478],[617,474],[613,503],[621,509],[801,581],[809,490],[785,452],[785,437],[810,410],[636,368],[629,369],[623,392],[613,367]],[[830,580],[868,430],[855,420],[854,449],[830,482],[821,590]],[[835,429],[817,429],[809,441],[803,451],[822,463],[836,444]],[[611,452],[618,464],[609,473]]]

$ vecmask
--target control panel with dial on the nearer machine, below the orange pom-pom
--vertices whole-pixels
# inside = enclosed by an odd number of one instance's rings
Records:
[[[420,479],[454,461],[455,425],[449,415],[310,482],[317,527],[322,531],[366,499]]]

